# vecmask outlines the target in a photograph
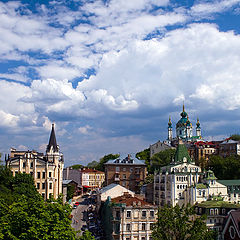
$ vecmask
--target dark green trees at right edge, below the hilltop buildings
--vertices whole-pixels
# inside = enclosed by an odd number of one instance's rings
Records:
[[[240,156],[212,155],[207,163],[218,179],[239,179],[240,176]]]

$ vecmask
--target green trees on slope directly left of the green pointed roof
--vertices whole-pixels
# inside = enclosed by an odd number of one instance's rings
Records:
[[[155,169],[159,169],[160,167],[168,165],[172,161],[175,152],[175,149],[166,149],[164,151],[154,154],[151,158],[152,164],[150,172],[152,173]]]

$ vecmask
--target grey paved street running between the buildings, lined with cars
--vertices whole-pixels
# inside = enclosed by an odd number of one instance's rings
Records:
[[[72,211],[72,224],[71,226],[74,228],[75,231],[79,231],[81,230],[83,225],[86,225],[86,212],[88,209],[88,200],[87,198],[82,198],[79,197],[76,202],[80,202],[80,204],[78,205],[78,207],[76,209],[73,209]],[[80,236],[82,234],[82,231],[77,234],[78,236]]]

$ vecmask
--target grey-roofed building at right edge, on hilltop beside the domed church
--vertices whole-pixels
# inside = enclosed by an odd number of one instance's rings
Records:
[[[231,155],[240,155],[240,142],[231,139],[226,139],[219,144],[219,155],[222,157],[228,157]]]

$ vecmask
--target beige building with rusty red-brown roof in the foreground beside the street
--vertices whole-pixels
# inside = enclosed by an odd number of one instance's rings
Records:
[[[128,193],[108,198],[102,208],[105,239],[151,240],[158,207]]]

